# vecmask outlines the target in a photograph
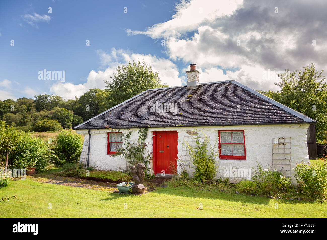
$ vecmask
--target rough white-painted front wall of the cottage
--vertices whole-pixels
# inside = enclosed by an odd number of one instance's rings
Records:
[[[263,166],[272,164],[272,139],[275,137],[291,137],[291,168],[296,163],[309,160],[307,148],[307,128],[309,124],[270,124],[270,125],[241,125],[241,126],[205,126],[197,127],[197,132],[203,136],[203,133],[209,136],[212,144],[218,138],[218,130],[244,130],[246,160],[224,160],[217,159],[218,171],[217,177],[224,178],[225,169],[245,168],[251,169],[257,166],[256,161]],[[192,127],[166,127],[149,128],[146,143],[149,142],[146,151],[152,152],[152,132],[153,131],[178,131],[178,157],[181,157],[182,144],[185,136],[189,136],[186,131],[194,130]],[[107,154],[107,133],[115,129],[92,129],[89,164],[103,170],[125,170],[126,160],[121,157],[113,157]],[[123,134],[128,131],[121,130]],[[130,129],[132,132],[130,140],[136,141],[138,138],[138,129]],[[84,135],[88,139],[87,130],[77,130],[78,134]],[[87,148],[87,146],[84,146]],[[152,159],[151,166],[152,168]],[[178,163],[177,169],[181,171]],[[293,175],[291,170],[291,176]],[[231,182],[237,182],[241,179],[229,177]],[[293,181],[294,182],[294,181]]]

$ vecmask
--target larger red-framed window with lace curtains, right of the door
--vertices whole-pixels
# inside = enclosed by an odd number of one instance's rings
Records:
[[[246,152],[244,130],[220,130],[219,154],[220,159],[245,160]]]

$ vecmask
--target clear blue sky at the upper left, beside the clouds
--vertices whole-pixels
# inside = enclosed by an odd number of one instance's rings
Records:
[[[13,82],[15,97],[25,86],[49,93],[53,82],[38,79],[38,71],[66,71],[66,81],[86,81],[100,67],[96,50],[129,49],[163,56],[161,42],[146,36],[127,37],[124,29],[145,29],[171,17],[174,2],[98,1],[96,5],[73,1],[1,1],[0,80]],[[52,13],[48,13],[52,7]],[[127,7],[127,14],[123,8]],[[160,8],[160,11],[153,10]],[[28,24],[22,15],[37,13],[50,20]],[[140,17],[146,16],[146,17]],[[21,24],[21,25],[20,25]],[[86,46],[86,40],[90,46]],[[14,40],[14,46],[10,46]],[[14,82],[19,83],[15,84]],[[32,97],[29,95],[28,97]]]

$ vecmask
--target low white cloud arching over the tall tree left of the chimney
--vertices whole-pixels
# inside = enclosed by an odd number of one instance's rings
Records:
[[[145,61],[150,64],[154,72],[159,72],[159,77],[163,83],[169,86],[180,86],[181,81],[185,79],[185,76],[179,78],[179,71],[177,66],[169,59],[158,58],[152,55],[135,54],[122,49],[112,48],[110,53],[98,50],[97,54],[100,57],[101,68],[107,67],[104,71],[89,72],[87,80],[83,84],[72,84],[69,82],[56,83],[50,87],[50,92],[63,97],[64,99],[74,99],[75,96],[83,95],[90,88],[106,88],[103,79],[110,80],[110,76],[116,71],[117,66],[126,65],[129,61],[141,62]]]

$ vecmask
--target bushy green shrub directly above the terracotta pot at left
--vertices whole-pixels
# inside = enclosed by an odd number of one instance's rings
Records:
[[[16,150],[9,155],[9,162],[12,168],[36,168],[42,171],[51,157],[53,154],[42,139],[22,132]]]

